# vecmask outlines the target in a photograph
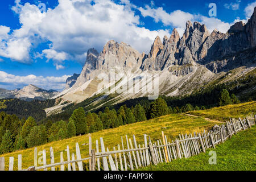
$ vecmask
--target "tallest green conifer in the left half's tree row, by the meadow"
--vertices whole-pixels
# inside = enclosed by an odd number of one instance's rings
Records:
[[[76,125],[76,134],[86,134],[88,132],[85,111],[82,107],[73,111],[69,121],[73,120]]]

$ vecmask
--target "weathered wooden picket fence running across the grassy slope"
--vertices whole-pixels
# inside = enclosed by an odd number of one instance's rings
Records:
[[[92,148],[92,138],[89,136],[89,155],[82,159],[79,143],[76,143],[76,154],[69,153],[67,146],[67,161],[63,160],[63,151],[60,152],[60,162],[55,163],[53,148],[50,147],[51,164],[47,164],[46,150],[43,150],[43,166],[38,166],[38,150],[34,150],[34,166],[22,169],[22,155],[18,155],[19,171],[44,170],[55,171],[55,167],[60,166],[60,170],[84,171],[82,162],[89,163],[89,170],[104,171],[133,171],[135,168],[146,167],[150,164],[171,162],[175,159],[190,158],[193,155],[205,152],[208,148],[215,148],[219,143],[225,142],[232,135],[255,125],[256,115],[247,116],[244,119],[230,119],[225,125],[215,125],[213,129],[203,133],[180,134],[179,138],[168,141],[162,131],[162,139],[151,141],[150,136],[144,135],[144,143],[137,144],[136,138],[121,137],[121,144],[118,144],[112,151],[105,148],[103,138],[100,143],[96,140],[96,149]],[[100,152],[101,150],[101,152]],[[65,152],[66,153],[66,152]],[[9,158],[9,171],[13,171],[14,157]],[[0,171],[5,170],[5,158],[0,158]]]

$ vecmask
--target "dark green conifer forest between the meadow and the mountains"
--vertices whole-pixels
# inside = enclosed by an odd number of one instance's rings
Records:
[[[200,94],[183,98],[162,96],[151,102],[146,98],[137,98],[136,100],[123,102],[123,105],[104,107],[93,113],[85,112],[83,107],[79,107],[73,110],[71,115],[64,113],[64,116],[68,117],[67,119],[61,119],[63,117],[61,114],[57,115],[60,117],[59,119],[55,116],[55,119],[48,117],[40,120],[40,117],[42,117],[40,114],[34,114],[34,117],[23,115],[20,118],[22,112],[7,114],[9,110],[5,108],[6,112],[1,111],[0,113],[0,154],[71,138],[76,135],[113,129],[162,115],[204,110],[211,106],[224,106],[240,102],[234,94],[230,95],[226,89],[222,89],[220,92],[213,89],[212,92],[207,94],[211,97],[201,96]],[[205,97],[205,100],[201,97]],[[201,101],[199,102],[200,98]],[[214,99],[207,100],[206,98]],[[42,109],[53,104],[52,100],[40,101],[38,107],[33,108],[33,104],[38,104],[38,102],[34,101],[30,103],[31,105],[27,104],[31,106],[32,110],[26,114],[33,115],[32,112],[36,113],[36,109]],[[195,103],[201,103],[202,105],[195,105]],[[19,107],[19,104],[16,105],[17,110]]]

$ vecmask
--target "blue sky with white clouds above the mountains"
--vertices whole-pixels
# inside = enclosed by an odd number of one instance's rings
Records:
[[[43,4],[42,4],[43,3]],[[216,3],[217,16],[208,7]],[[155,37],[183,34],[185,22],[226,32],[247,22],[255,0],[8,0],[0,2],[0,88],[34,84],[62,90],[65,80],[80,73],[86,51],[99,52],[108,40],[125,42],[148,53]],[[45,5],[46,11],[42,9]]]

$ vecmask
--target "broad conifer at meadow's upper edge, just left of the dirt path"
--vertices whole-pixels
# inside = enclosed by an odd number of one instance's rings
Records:
[[[157,118],[162,115],[167,115],[169,113],[169,108],[166,104],[166,101],[163,98],[158,98],[150,105],[150,117]]]

